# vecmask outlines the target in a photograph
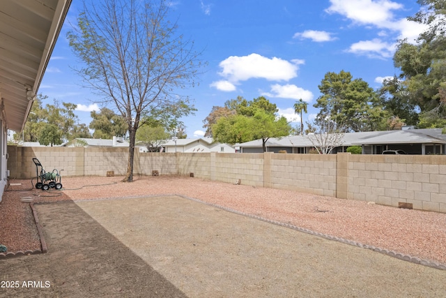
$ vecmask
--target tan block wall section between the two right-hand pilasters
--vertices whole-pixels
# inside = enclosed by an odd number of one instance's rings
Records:
[[[272,154],[271,187],[336,195],[336,155]]]

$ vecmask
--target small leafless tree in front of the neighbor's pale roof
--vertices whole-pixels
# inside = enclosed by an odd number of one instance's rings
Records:
[[[341,146],[344,139],[344,127],[330,119],[318,119],[317,124],[311,124],[314,133],[307,135],[319,154],[330,154],[334,148]]]

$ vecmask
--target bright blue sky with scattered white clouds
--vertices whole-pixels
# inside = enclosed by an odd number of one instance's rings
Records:
[[[73,0],[39,94],[49,97],[45,103],[77,104],[79,121],[88,125],[100,106],[71,70],[77,59],[66,39],[80,8],[82,1]],[[182,119],[187,137],[203,136],[212,107],[237,96],[265,96],[293,126],[300,123],[293,105],[302,98],[309,103],[305,123],[318,112],[313,105],[325,73],[346,70],[376,89],[399,74],[392,61],[397,40],[413,42],[424,29],[406,20],[420,9],[416,0],[174,0],[171,8],[178,33],[208,62],[199,86],[183,91],[198,110]]]

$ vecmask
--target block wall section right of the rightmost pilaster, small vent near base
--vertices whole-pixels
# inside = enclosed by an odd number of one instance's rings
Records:
[[[446,156],[348,158],[348,199],[446,213]]]

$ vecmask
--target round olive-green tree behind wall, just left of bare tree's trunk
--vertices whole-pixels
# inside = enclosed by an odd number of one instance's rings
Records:
[[[91,111],[92,118],[90,128],[94,130],[95,139],[112,139],[112,137],[123,137],[127,133],[128,125],[123,117],[115,114],[107,107],[102,107],[100,112]]]

